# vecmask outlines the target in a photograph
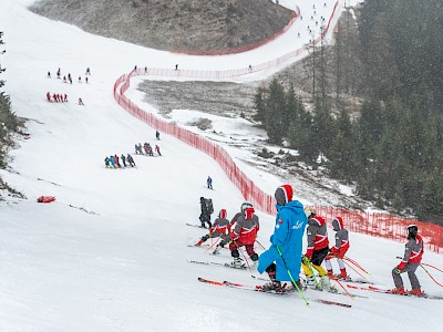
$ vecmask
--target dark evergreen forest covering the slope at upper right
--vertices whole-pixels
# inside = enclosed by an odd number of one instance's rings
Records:
[[[256,92],[256,117],[270,142],[286,141],[362,198],[442,224],[443,2],[365,0],[352,10],[336,43],[307,59],[312,107],[275,79]],[[356,96],[357,112],[343,106]]]

